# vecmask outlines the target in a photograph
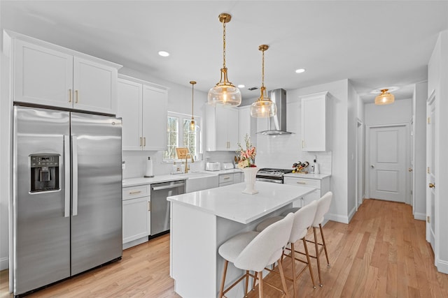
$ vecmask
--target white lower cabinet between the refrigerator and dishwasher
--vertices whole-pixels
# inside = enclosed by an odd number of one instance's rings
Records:
[[[148,185],[123,187],[123,249],[148,241],[151,196]]]

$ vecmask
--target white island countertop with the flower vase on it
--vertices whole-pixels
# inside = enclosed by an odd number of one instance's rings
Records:
[[[255,195],[241,193],[244,188],[246,188],[244,183],[232,184],[174,195],[168,197],[167,200],[246,224],[286,206],[316,189],[262,181],[255,182],[255,189],[258,191]]]

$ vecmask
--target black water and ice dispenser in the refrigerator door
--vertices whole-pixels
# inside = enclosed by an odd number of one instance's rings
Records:
[[[29,156],[31,193],[59,190],[59,154],[33,154]]]

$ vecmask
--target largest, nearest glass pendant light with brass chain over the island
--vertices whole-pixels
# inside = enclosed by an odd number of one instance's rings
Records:
[[[234,84],[229,82],[227,68],[225,67],[225,23],[230,22],[231,19],[232,17],[228,13],[219,15],[219,21],[223,23],[223,68],[221,68],[221,80],[209,90],[209,105],[237,107],[241,104],[241,92]]]

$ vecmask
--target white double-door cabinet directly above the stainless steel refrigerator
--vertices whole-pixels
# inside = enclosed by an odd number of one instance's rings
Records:
[[[116,114],[121,66],[18,33],[6,40],[13,101]]]

